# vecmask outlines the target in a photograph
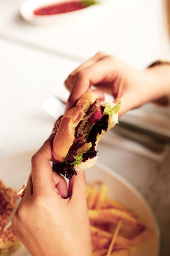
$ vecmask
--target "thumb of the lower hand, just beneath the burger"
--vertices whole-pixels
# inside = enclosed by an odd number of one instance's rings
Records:
[[[78,171],[69,181],[69,197],[73,200],[86,199],[86,175],[85,171]]]

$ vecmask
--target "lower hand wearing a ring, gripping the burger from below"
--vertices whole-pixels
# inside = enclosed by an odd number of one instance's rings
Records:
[[[16,234],[31,256],[90,256],[91,233],[84,171],[69,182],[53,173],[51,140],[32,157],[24,196],[13,216]]]

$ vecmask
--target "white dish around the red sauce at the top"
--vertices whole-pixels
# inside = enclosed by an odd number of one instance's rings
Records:
[[[20,14],[26,21],[31,22],[34,25],[55,25],[67,22],[76,21],[80,22],[83,19],[94,20],[95,14],[99,15],[100,5],[106,0],[98,0],[99,4],[92,4],[89,7],[72,11],[68,13],[61,13],[55,15],[34,15],[33,11],[40,7],[49,6],[51,4],[57,4],[58,2],[66,2],[71,0],[25,0],[20,6]],[[92,21],[91,20],[91,21]]]

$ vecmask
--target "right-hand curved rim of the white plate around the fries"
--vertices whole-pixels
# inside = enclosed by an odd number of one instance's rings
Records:
[[[151,231],[152,236],[150,238],[131,248],[130,256],[158,256],[159,227],[150,206],[141,193],[124,177],[99,162],[86,170],[86,181],[92,184],[95,181],[102,181],[106,184],[109,188],[108,196],[123,204],[127,209],[132,209]]]

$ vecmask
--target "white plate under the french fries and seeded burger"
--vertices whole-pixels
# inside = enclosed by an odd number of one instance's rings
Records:
[[[28,179],[33,153],[35,151],[2,160],[0,162],[0,180],[17,190]],[[109,186],[108,196],[133,209],[152,232],[152,238],[143,243],[140,249],[137,252],[134,251],[131,256],[158,256],[159,229],[150,207],[141,194],[123,177],[99,162],[86,171],[86,180],[87,182],[102,180]],[[28,256],[28,251],[21,246],[12,256]]]

